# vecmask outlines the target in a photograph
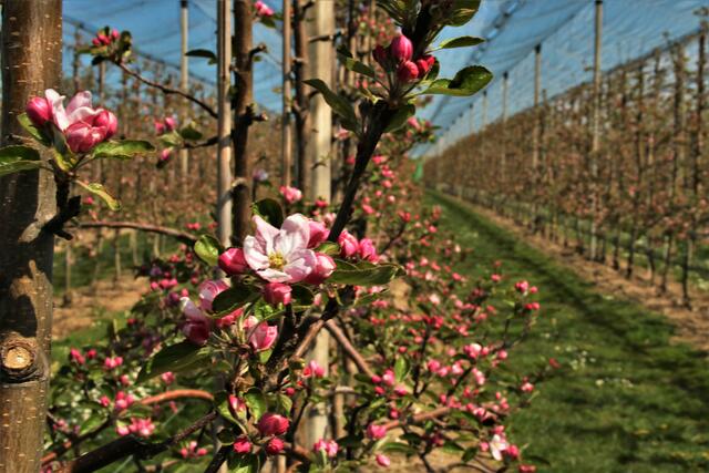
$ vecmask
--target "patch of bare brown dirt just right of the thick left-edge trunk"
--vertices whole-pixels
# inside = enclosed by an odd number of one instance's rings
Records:
[[[101,312],[112,313],[127,310],[147,288],[146,278],[126,275],[117,284],[112,279],[99,280],[95,287],[86,286],[72,291],[72,302],[64,306],[62,297],[54,298],[52,337],[66,335],[90,327]]]

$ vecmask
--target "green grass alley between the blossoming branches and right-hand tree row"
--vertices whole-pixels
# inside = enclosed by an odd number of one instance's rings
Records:
[[[510,432],[542,472],[709,471],[709,361],[670,343],[660,315],[596,292],[577,277],[471,208],[431,194],[472,260],[456,269],[474,276],[503,261],[508,280],[540,287],[542,312],[532,336],[511,356],[521,373],[555,357],[562,376],[540,385]]]

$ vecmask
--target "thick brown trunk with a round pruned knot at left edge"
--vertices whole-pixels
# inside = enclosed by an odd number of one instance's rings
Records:
[[[61,0],[6,0],[2,8],[2,144],[27,136],[17,121],[32,95],[59,89]],[[43,153],[42,160],[49,156]],[[40,469],[52,328],[54,237],[42,232],[56,212],[44,171],[0,178],[0,471]]]

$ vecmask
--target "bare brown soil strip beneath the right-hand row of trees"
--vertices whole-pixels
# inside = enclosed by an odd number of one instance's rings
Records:
[[[700,350],[709,351],[709,295],[695,289],[691,292],[693,307],[691,310],[687,309],[681,305],[681,287],[678,282],[670,282],[668,292],[659,294],[657,287],[650,284],[649,275],[641,268],[638,268],[631,279],[626,279],[623,267],[620,268],[621,273],[618,273],[610,266],[588,261],[572,247],[555,244],[541,235],[532,235],[527,229],[520,228],[512,219],[502,217],[486,208],[469,205],[496,225],[524,239],[537,250],[553,256],[582,278],[594,282],[598,291],[631,299],[650,310],[665,315],[677,327],[675,339],[691,343]]]

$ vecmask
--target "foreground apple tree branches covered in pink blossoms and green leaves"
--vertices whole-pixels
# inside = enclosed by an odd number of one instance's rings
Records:
[[[151,291],[127,325],[111,325],[104,342],[73,348],[58,372],[48,415],[51,446],[42,459],[48,471],[95,471],[127,456],[153,471],[189,462],[206,472],[223,464],[254,472],[271,457],[287,459],[292,470],[349,471],[387,467],[395,453],[417,456],[433,472],[436,450],[455,455],[452,466],[534,471],[521,463],[505,420],[551,368],[516,379],[501,367],[534,322],[536,288],[506,281],[500,267],[475,281],[455,273],[452,265],[465,251],[439,230],[440,210],[411,212],[420,191],[407,178],[407,152],[431,140],[431,125],[414,116],[422,97],[472,95],[492,78],[479,65],[439,78],[433,55],[481,41],[435,44],[443,28],[467,23],[479,3],[380,0],[395,32],[368,51],[373,62],[338,50],[342,65],[360,78],[349,91],[357,107],[321,80],[305,81],[337,115],[343,140],[357,143],[346,160],[342,202],[306,202],[299,189],[284,186],[281,202],[254,203],[243,240],[223,247],[210,234],[183,233],[189,245],[179,254],[146,265]],[[264,3],[254,8],[260,21],[274,21]],[[130,33],[105,29],[91,52],[133,73],[130,47]],[[30,146],[6,147],[0,171],[51,173],[58,212],[49,229],[68,237],[63,226],[80,210],[69,183],[117,207],[106,189],[81,179],[80,168],[153,147],[111,141],[115,116],[93,109],[89,93],[66,109],[62,101],[48,90],[20,117],[53,157],[39,160]],[[194,136],[161,123],[169,148]],[[394,280],[399,289],[390,290]],[[338,360],[328,367],[305,361],[321,330],[338,346]],[[304,412],[323,401],[332,405],[332,425],[305,445],[298,436]],[[92,449],[69,457],[82,445]]]

